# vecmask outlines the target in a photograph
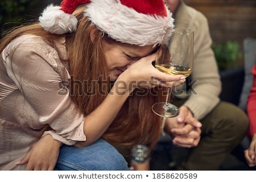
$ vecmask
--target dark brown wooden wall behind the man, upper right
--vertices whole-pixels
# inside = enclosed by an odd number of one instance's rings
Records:
[[[256,38],[256,0],[184,0],[207,16],[214,42]]]

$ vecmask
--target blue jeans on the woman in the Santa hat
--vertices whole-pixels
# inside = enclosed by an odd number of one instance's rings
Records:
[[[129,167],[125,158],[111,144],[99,139],[84,148],[61,146],[55,170],[127,171]]]

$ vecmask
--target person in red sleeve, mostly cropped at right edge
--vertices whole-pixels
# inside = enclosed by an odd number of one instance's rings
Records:
[[[256,166],[256,64],[251,69],[251,73],[253,74],[253,86],[247,98],[247,114],[250,119],[249,137],[251,138],[251,143],[250,147],[245,150],[245,159],[249,167],[254,167]]]

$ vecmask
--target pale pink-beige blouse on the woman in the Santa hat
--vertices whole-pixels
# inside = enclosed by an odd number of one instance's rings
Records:
[[[56,140],[72,145],[85,140],[84,115],[69,96],[68,64],[42,38],[23,35],[0,55],[0,169],[16,167],[46,125]]]

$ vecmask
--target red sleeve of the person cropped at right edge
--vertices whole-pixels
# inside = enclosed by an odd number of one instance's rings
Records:
[[[249,135],[252,138],[256,133],[256,64],[251,69],[253,73],[253,86],[247,98],[247,114],[250,119]]]

